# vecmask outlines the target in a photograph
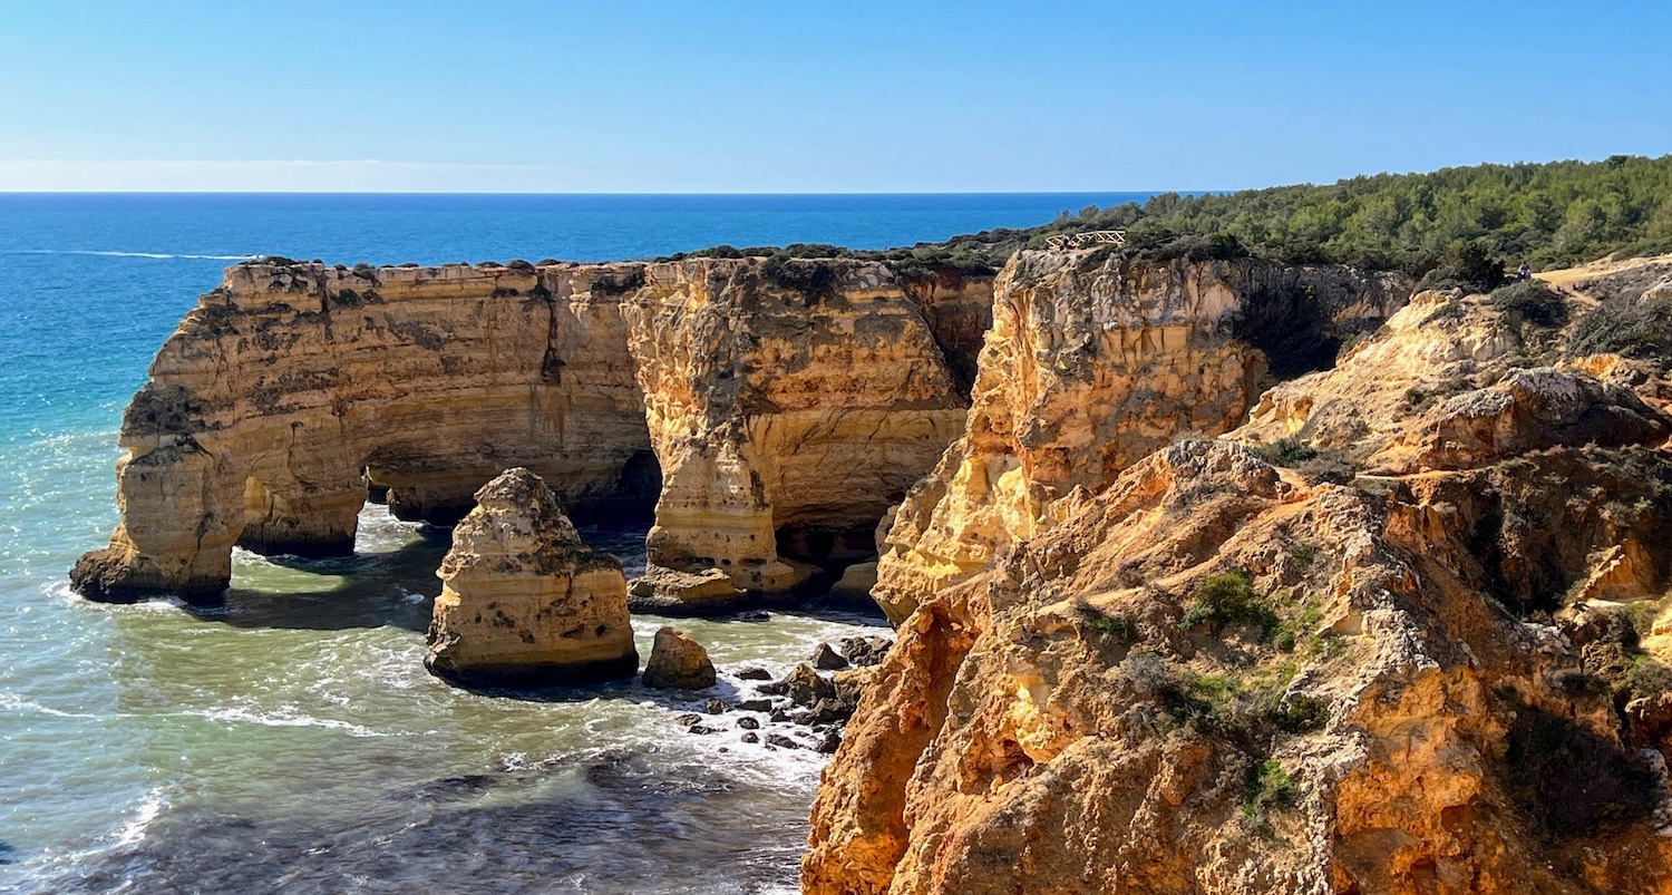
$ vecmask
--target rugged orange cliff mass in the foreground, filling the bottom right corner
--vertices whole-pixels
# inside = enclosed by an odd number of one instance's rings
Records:
[[[804,890],[1665,892],[1672,420],[1582,360],[1475,360],[1560,345],[1480,299],[1418,338],[1438,301],[1279,428],[1344,475],[1174,443],[926,597]]]

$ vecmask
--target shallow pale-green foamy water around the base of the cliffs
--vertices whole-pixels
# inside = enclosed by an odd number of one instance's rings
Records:
[[[587,530],[642,564],[642,532]],[[62,587],[7,606],[50,654],[0,694],[10,846],[23,892],[782,892],[824,761],[675,716],[736,698],[843,612],[681,619],[722,681],[475,694],[423,671],[445,532],[381,507],[358,555],[239,552],[224,609],[94,606]],[[634,619],[639,647],[667,622]],[[67,644],[75,644],[69,647]],[[762,718],[764,721],[764,718]],[[782,724],[781,733],[811,736]]]

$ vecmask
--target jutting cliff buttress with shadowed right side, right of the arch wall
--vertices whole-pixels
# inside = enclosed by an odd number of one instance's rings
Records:
[[[935,331],[883,264],[659,264],[622,308],[664,470],[644,606],[724,606],[868,559],[963,427]]]

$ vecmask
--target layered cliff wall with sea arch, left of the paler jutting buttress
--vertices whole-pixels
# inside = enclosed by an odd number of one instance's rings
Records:
[[[568,505],[652,499],[624,494],[652,453],[610,271],[229,268],[124,415],[122,525],[74,584],[217,594],[234,544],[351,552],[368,478],[446,524],[518,465]]]

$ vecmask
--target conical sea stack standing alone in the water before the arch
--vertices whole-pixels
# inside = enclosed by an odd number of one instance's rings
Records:
[[[527,468],[477,492],[436,572],[431,674],[466,686],[548,686],[639,671],[627,579],[592,552]]]

